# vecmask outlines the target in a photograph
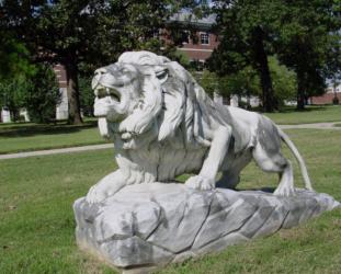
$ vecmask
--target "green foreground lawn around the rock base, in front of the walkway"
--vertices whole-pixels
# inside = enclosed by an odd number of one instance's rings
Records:
[[[318,192],[341,201],[341,132],[287,130]],[[289,156],[285,149],[285,153]],[[0,273],[114,273],[78,250],[72,203],[115,169],[113,151],[0,161]],[[302,186],[295,164],[296,185]],[[250,164],[240,189],[275,186]],[[341,209],[159,273],[340,273]]]

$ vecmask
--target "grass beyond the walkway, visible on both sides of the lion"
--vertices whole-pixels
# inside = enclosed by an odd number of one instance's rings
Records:
[[[265,114],[277,124],[341,122],[341,106],[308,106],[305,112],[293,107],[282,113]],[[81,126],[37,125],[33,123],[0,124],[0,155],[41,149],[101,144],[94,118]]]

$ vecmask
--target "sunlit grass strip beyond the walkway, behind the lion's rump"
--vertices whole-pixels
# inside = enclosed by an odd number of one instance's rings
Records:
[[[283,112],[264,113],[264,115],[282,125],[341,122],[341,105],[307,106],[303,112],[297,112],[294,107],[286,107]]]

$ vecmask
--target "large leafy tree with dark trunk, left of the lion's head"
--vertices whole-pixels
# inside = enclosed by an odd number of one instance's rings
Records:
[[[36,53],[35,60],[60,62],[67,72],[69,123],[81,123],[79,66],[94,69],[125,50],[158,49],[156,31],[177,9],[195,1],[3,0],[2,25]]]

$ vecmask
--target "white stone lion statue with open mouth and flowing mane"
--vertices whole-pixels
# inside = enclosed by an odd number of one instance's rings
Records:
[[[234,189],[240,171],[253,159],[276,172],[275,195],[294,195],[291,162],[281,140],[298,160],[305,186],[306,165],[291,139],[268,117],[224,106],[205,93],[175,61],[149,52],[128,52],[95,71],[94,114],[101,135],[114,141],[118,169],[92,186],[89,203],[98,203],[125,185],[171,182],[195,173],[185,185],[196,190]]]

